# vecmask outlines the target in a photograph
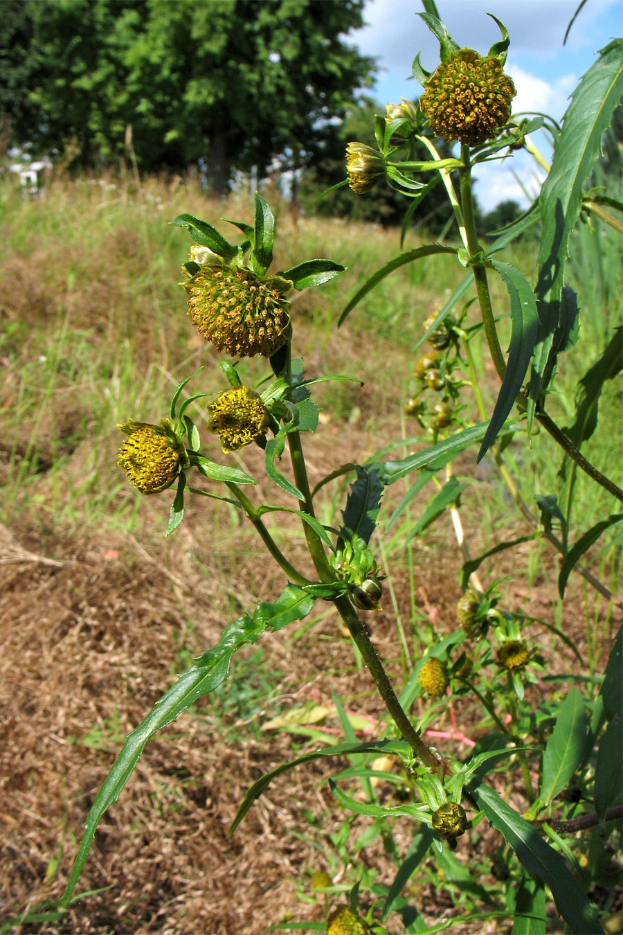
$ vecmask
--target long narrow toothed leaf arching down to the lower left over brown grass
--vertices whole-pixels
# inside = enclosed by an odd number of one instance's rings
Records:
[[[254,643],[267,627],[278,630],[293,620],[303,620],[314,603],[314,597],[289,584],[274,604],[262,601],[252,617],[248,613],[238,617],[225,627],[219,643],[200,656],[191,669],[180,675],[177,683],[156,702],[145,720],[128,734],[120,755],[92,804],[61,904],[67,904],[76,888],[100,819],[106,809],[119,798],[121,789],[127,783],[150,738],[175,720],[178,714],[190,708],[197,698],[219,686],[227,677],[236,650],[246,643]]]

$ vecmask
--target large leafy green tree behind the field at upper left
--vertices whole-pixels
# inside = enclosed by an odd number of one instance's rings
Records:
[[[23,8],[26,17],[23,17]],[[27,74],[9,102],[16,141],[110,163],[133,128],[141,168],[205,159],[222,190],[278,154],[313,162],[374,63],[344,36],[363,0],[26,0]],[[5,27],[3,49],[10,37]],[[13,80],[8,63],[5,80]],[[19,115],[19,119],[18,118]]]

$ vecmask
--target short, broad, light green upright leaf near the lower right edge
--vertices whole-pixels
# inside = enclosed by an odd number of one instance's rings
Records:
[[[543,753],[539,799],[545,807],[566,788],[584,757],[587,745],[587,712],[582,696],[573,686],[565,698]]]

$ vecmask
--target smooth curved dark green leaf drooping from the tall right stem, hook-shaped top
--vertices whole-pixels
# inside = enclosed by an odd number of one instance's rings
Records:
[[[491,421],[482,440],[477,461],[480,461],[489,445],[496,439],[506,417],[515,405],[534,350],[534,341],[539,324],[536,299],[530,283],[513,266],[499,260],[489,260],[503,278],[511,300],[511,342],[508,349],[506,372],[500,388]]]

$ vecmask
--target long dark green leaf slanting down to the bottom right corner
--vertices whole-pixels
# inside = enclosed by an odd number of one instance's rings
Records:
[[[470,792],[489,823],[503,834],[504,841],[510,844],[531,876],[545,880],[573,935],[603,935],[596,907],[588,901],[563,858],[543,840],[536,828],[488,785],[470,785]]]

